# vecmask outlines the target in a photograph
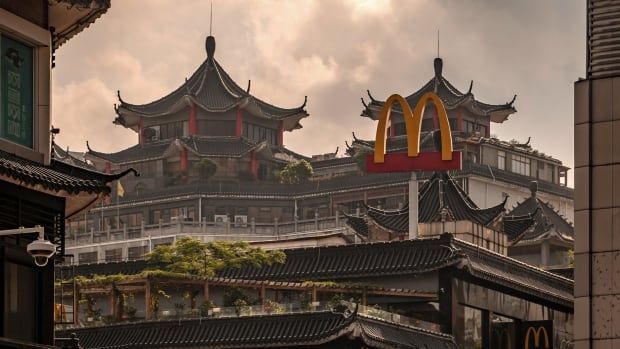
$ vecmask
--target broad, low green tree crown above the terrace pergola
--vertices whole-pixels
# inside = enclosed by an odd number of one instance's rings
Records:
[[[225,268],[260,267],[284,263],[282,251],[267,251],[245,241],[211,241],[183,237],[173,245],[160,245],[146,255],[149,263],[164,264],[175,273],[212,277]]]

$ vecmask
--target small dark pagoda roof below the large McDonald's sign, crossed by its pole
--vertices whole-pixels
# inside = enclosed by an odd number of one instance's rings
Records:
[[[442,219],[467,220],[488,226],[504,213],[505,204],[506,199],[496,206],[481,209],[448,173],[435,173],[419,189],[418,222],[432,223]],[[408,204],[399,210],[381,210],[368,205],[365,207],[367,219],[372,223],[395,234],[409,233]],[[360,218],[362,217],[349,218],[348,222],[353,229],[364,228],[362,224],[356,222]]]

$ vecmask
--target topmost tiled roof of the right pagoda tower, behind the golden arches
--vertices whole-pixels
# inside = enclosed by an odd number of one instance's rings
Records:
[[[407,103],[413,108],[420,100],[420,97],[427,92],[435,92],[443,101],[447,110],[453,110],[458,107],[465,107],[473,114],[479,116],[489,116],[491,121],[502,123],[508,119],[510,114],[515,113],[517,110],[514,108],[513,103],[516,99],[516,95],[512,101],[504,104],[488,104],[478,101],[474,98],[471,92],[473,87],[473,81],[469,85],[469,90],[466,93],[459,91],[454,87],[443,75],[443,60],[441,58],[435,58],[435,76],[431,78],[422,88],[416,92],[405,97]],[[375,99],[368,91],[368,97],[370,103],[366,103],[362,98],[362,104],[364,109],[362,110],[362,116],[369,117],[373,120],[377,119],[378,112],[383,108],[385,101]],[[400,106],[394,106],[394,110],[400,112]]]

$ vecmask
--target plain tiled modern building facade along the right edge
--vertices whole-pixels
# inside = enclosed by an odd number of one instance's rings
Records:
[[[575,348],[604,348],[620,338],[620,3],[586,3],[586,77],[575,82]]]

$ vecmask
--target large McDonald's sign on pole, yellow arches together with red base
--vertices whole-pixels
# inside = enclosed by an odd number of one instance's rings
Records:
[[[420,133],[422,117],[426,104],[432,102],[437,109],[439,131],[441,133],[441,152],[420,152]],[[407,153],[386,154],[386,129],[392,106],[398,104],[402,109],[407,131]],[[448,114],[443,102],[433,92],[427,92],[418,100],[413,111],[409,103],[400,95],[391,95],[379,112],[379,124],[375,137],[375,152],[366,158],[368,172],[411,172],[447,171],[461,168],[461,153],[452,146],[452,132]]]

